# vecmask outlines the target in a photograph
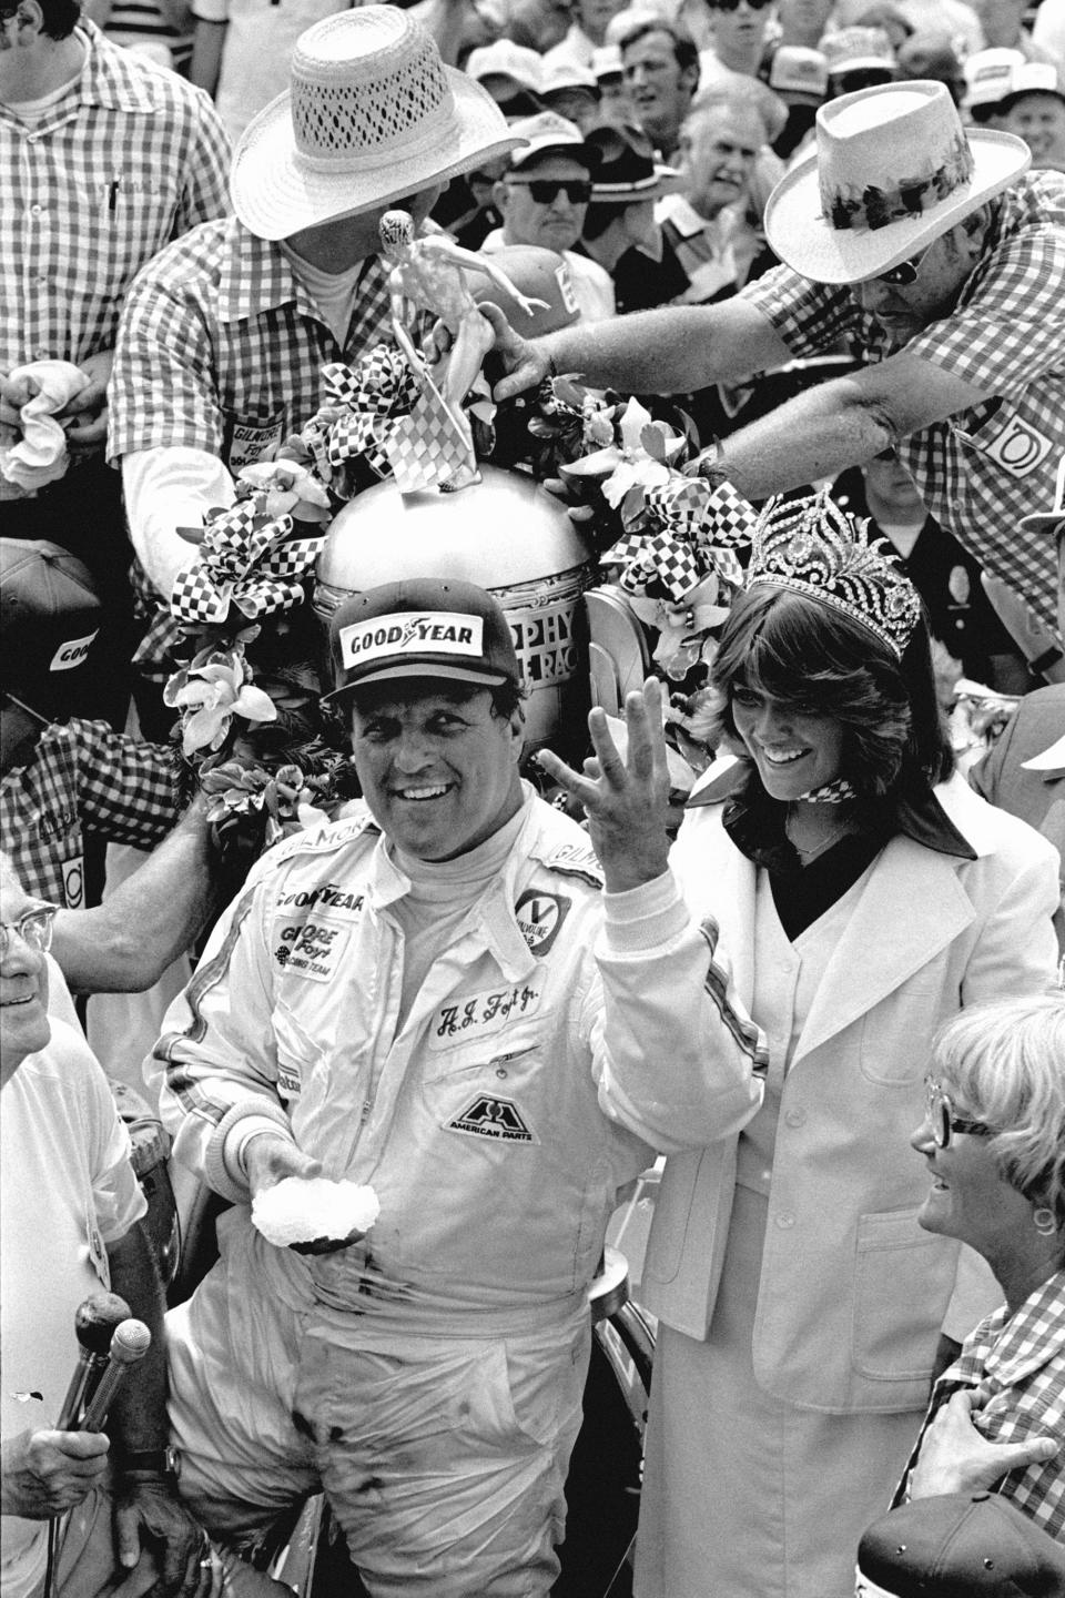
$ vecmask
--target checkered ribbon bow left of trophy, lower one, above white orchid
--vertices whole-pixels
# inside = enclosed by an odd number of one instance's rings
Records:
[[[208,523],[195,566],[174,578],[171,615],[179,622],[219,625],[230,606],[254,622],[302,602],[302,578],[326,535],[292,539],[292,518],[267,518],[265,499],[255,492]]]

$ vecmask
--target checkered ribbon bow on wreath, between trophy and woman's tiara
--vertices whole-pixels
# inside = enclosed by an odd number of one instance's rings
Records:
[[[645,594],[658,585],[671,604],[683,604],[711,572],[742,586],[734,550],[752,542],[758,518],[731,483],[711,487],[675,473],[645,489],[643,503],[651,526],[626,534],[602,556],[604,564],[623,567],[620,583],[628,593]]]

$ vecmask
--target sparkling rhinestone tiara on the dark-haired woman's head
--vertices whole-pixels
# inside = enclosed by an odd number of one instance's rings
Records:
[[[773,499],[754,527],[747,588],[771,583],[832,606],[901,660],[921,601],[894,555],[881,553],[878,543],[869,542],[869,521],[848,516],[827,489],[805,499]]]

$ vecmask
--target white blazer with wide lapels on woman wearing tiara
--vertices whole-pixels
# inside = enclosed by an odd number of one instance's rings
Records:
[[[961,1005],[1054,980],[1057,850],[960,777],[936,796],[977,858],[891,839],[784,1082],[754,1368],[768,1392],[800,1408],[924,1403],[958,1256],[956,1243],[915,1221],[928,1175],[909,1136],[924,1112],[929,1040]],[[755,868],[722,810],[688,812],[671,865],[693,912],[719,920],[750,1007]],[[736,1136],[672,1154],[655,1203],[642,1301],[698,1339],[714,1310],[734,1171]]]

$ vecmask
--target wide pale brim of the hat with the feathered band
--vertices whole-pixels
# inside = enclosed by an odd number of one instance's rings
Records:
[[[765,208],[765,237],[781,260],[813,283],[862,283],[931,244],[985,200],[993,200],[1031,165],[1023,139],[990,128],[966,128],[974,171],[939,205],[886,227],[833,229],[821,211],[818,152],[781,177]]]

